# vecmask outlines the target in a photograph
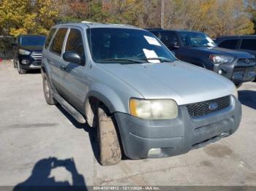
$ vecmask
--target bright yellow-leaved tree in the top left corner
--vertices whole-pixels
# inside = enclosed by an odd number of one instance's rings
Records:
[[[7,35],[47,34],[59,11],[53,0],[2,0],[0,26]]]

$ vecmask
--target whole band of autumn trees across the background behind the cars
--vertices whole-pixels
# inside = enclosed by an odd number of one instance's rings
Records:
[[[55,23],[87,20],[160,27],[162,0],[0,0],[0,34],[47,34]],[[256,0],[165,0],[165,28],[210,36],[253,34]]]

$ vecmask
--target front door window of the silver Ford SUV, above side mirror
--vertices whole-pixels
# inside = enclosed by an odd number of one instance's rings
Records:
[[[81,58],[85,57],[83,48],[83,37],[78,29],[71,28],[69,31],[69,36],[67,37],[66,49],[65,51],[72,51],[78,53]]]

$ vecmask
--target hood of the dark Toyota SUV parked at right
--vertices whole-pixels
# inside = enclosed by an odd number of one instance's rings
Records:
[[[239,50],[230,50],[221,47],[189,47],[189,49],[197,50],[200,52],[208,52],[209,54],[217,55],[227,55],[234,58],[253,58],[248,52],[243,52]]]

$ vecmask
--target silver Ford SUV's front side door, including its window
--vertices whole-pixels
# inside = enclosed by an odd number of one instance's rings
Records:
[[[86,80],[86,46],[83,30],[75,27],[70,28],[65,44],[64,52],[76,52],[82,58],[83,63],[62,62],[61,81],[64,88],[64,98],[75,105],[77,109],[83,111],[83,102],[88,91],[88,82]]]

